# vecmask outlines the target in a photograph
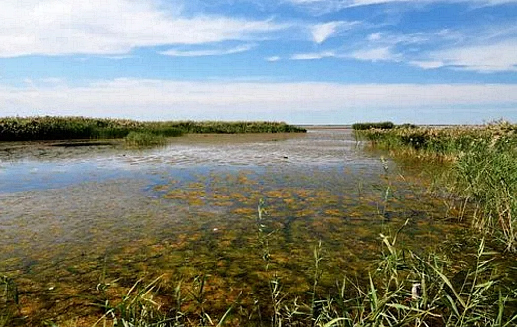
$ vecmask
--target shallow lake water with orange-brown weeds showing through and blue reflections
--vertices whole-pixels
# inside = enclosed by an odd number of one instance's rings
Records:
[[[143,150],[117,142],[2,144],[0,275],[18,284],[25,317],[18,323],[91,325],[102,315],[93,305],[101,279],[120,298],[140,278],[163,275],[166,307],[180,280],[193,290],[203,276],[215,316],[239,294],[251,307],[267,297],[261,199],[269,269],[301,298],[309,296],[319,241],[322,294],[343,276],[364,278],[381,253],[379,234],[406,220],[401,246],[461,256],[465,227],[444,219],[447,207],[418,176],[389,160],[386,173],[381,155],[364,150],[349,129],[331,128],[187,135]]]

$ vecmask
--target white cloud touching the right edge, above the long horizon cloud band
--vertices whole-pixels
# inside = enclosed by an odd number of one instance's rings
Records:
[[[479,72],[517,71],[517,38],[431,52],[434,61]]]

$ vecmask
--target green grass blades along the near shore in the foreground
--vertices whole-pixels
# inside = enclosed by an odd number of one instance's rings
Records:
[[[259,213],[261,208],[259,207]],[[407,221],[406,221],[407,224]],[[262,258],[269,271],[267,237],[262,218],[257,219]],[[336,280],[336,289],[325,295],[317,293],[320,278],[322,245],[314,248],[314,275],[311,300],[301,302],[296,294],[282,290],[281,278],[272,273],[268,280],[269,308],[265,302],[255,301],[252,314],[231,320],[231,325],[318,326],[318,327],[367,327],[367,326],[444,326],[444,327],[509,327],[517,322],[512,296],[514,289],[504,286],[504,275],[493,265],[493,253],[485,250],[481,240],[474,260],[455,274],[447,258],[436,255],[418,255],[397,244],[397,235],[382,235],[382,257],[376,269],[361,284],[348,277]],[[261,240],[262,238],[262,240]],[[453,276],[453,278],[448,277]],[[188,313],[182,311],[181,283],[175,288],[177,306],[167,311],[161,309],[158,284],[161,276],[139,287],[138,280],[117,304],[106,302],[104,315],[96,322],[113,326],[183,326],[193,324]],[[202,279],[204,285],[205,279]],[[202,297],[203,288],[197,295],[190,292],[194,301]],[[179,295],[178,295],[179,294]],[[265,300],[267,301],[267,300]],[[262,304],[262,305],[261,305]],[[208,311],[203,311],[202,325],[221,326],[231,316],[234,303],[216,323]],[[255,315],[253,314],[255,313]],[[235,317],[234,317],[235,318]]]

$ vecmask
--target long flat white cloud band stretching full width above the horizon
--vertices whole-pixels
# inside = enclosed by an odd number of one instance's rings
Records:
[[[306,115],[332,110],[418,110],[424,106],[504,104],[517,106],[517,84],[186,82],[121,78],[81,87],[0,85],[2,115],[202,119],[214,113],[234,117],[242,112]]]

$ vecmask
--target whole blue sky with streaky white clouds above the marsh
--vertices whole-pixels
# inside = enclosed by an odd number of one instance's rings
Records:
[[[517,0],[1,0],[16,115],[517,122]]]

